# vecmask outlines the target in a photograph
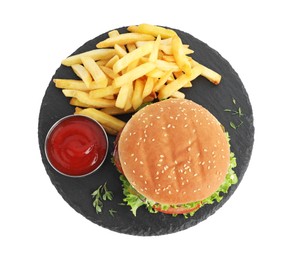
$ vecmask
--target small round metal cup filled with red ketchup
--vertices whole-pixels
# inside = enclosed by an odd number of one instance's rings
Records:
[[[103,128],[80,115],[68,116],[56,123],[46,138],[46,156],[58,172],[84,176],[104,161],[108,141]]]

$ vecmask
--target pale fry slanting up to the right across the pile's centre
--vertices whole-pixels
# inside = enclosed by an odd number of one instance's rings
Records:
[[[147,74],[148,72],[152,71],[155,67],[156,65],[152,62],[141,64],[138,67],[132,69],[131,71],[116,78],[114,80],[114,84],[116,87],[120,87],[130,82],[133,82],[137,78],[140,78],[144,76],[145,74]]]

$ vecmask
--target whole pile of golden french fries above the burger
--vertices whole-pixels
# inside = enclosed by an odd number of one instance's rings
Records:
[[[200,75],[219,84],[221,76],[188,56],[194,51],[175,31],[150,24],[127,30],[110,31],[96,49],[62,61],[78,80],[54,79],[71,98],[75,114],[97,120],[109,134],[125,125],[115,115],[132,113],[155,99],[185,98],[180,89],[191,87]]]

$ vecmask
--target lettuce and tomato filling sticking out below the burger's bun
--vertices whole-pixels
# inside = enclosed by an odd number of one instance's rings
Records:
[[[119,136],[118,136],[119,137]],[[171,214],[177,216],[183,214],[185,217],[193,216],[197,210],[206,204],[213,204],[215,201],[220,202],[223,198],[223,195],[228,192],[229,188],[238,182],[238,177],[234,172],[233,168],[237,166],[236,157],[234,153],[230,153],[230,165],[228,173],[222,185],[219,189],[210,195],[208,198],[202,201],[196,201],[180,205],[168,205],[168,204],[159,204],[155,201],[149,200],[136,191],[133,186],[129,183],[122,172],[120,160],[118,157],[118,137],[115,141],[115,149],[113,153],[113,162],[120,173],[120,180],[122,182],[124,199],[123,201],[131,207],[132,213],[136,216],[137,209],[141,206],[145,206],[149,212],[157,213],[163,212],[166,214]],[[228,133],[226,133],[228,142],[230,141]]]

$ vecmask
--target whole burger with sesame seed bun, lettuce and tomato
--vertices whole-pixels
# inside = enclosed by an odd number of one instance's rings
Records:
[[[186,99],[147,105],[115,141],[114,163],[122,173],[124,202],[136,215],[192,216],[220,202],[237,182],[229,135],[207,109]]]

